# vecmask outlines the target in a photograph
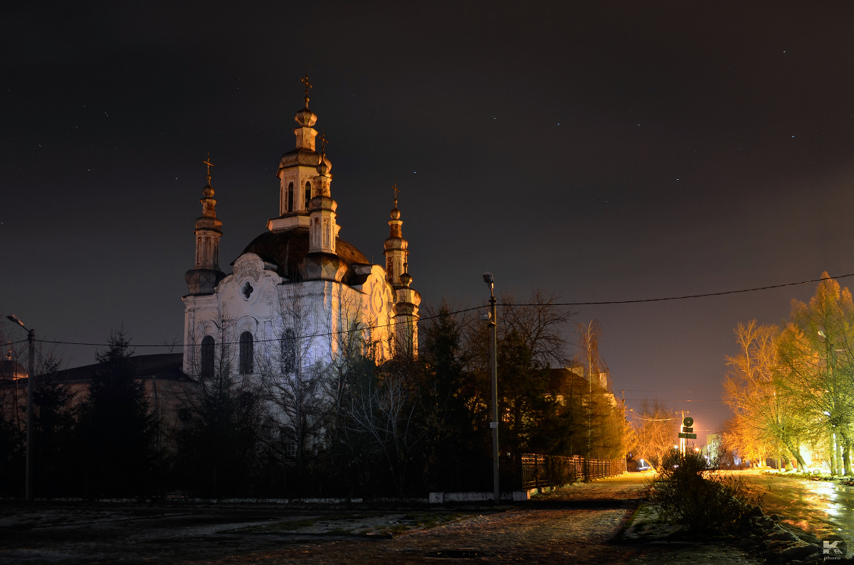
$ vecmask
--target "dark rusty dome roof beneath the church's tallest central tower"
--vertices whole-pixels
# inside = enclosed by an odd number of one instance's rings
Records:
[[[357,278],[353,265],[371,265],[359,249],[340,237],[336,237],[335,249],[338,257],[347,265],[347,274],[342,283],[350,284]],[[278,274],[291,281],[301,280],[299,267],[308,254],[308,229],[296,228],[279,233],[265,231],[254,238],[240,254],[245,253],[254,253],[267,263],[278,265]]]

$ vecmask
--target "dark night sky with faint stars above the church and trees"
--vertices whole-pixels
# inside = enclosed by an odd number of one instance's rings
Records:
[[[396,180],[425,304],[477,305],[483,271],[570,302],[854,272],[847,3],[14,4],[0,312],[41,338],[180,339],[202,160],[229,271],[278,213],[306,66],[342,239],[383,263]],[[602,323],[618,397],[689,410],[702,439],[728,417],[735,324],[814,289],[575,320]]]

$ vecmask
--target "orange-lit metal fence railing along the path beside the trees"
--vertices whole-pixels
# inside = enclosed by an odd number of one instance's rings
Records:
[[[563,486],[579,479],[600,479],[626,472],[625,459],[585,459],[580,456],[521,454],[522,488]]]

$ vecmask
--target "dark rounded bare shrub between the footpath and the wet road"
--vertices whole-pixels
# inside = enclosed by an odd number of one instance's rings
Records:
[[[652,480],[652,504],[659,515],[693,533],[727,533],[741,526],[749,504],[760,504],[741,477],[711,469],[696,452],[664,456]]]

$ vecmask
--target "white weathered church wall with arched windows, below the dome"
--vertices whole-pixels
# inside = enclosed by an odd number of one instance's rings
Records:
[[[266,349],[275,355],[287,327],[301,338],[302,364],[327,363],[356,322],[378,360],[389,358],[395,292],[385,279],[385,270],[372,265],[366,282],[354,287],[334,281],[289,283],[265,268],[260,257],[246,253],[214,294],[184,298],[184,372],[196,376],[205,335],[213,336],[218,349],[222,341],[231,343],[228,358],[237,374],[237,341],[243,331],[252,333],[256,354]]]

